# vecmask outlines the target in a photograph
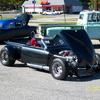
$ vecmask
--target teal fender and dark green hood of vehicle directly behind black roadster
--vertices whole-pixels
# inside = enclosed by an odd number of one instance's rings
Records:
[[[66,25],[66,24],[40,24],[38,31],[43,36],[53,38],[59,34],[62,30],[80,30],[83,27],[78,25]]]

